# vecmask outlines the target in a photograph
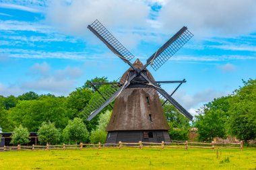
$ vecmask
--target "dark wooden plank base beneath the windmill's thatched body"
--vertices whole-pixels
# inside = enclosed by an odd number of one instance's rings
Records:
[[[170,142],[167,130],[125,130],[108,132],[106,143],[121,142]]]

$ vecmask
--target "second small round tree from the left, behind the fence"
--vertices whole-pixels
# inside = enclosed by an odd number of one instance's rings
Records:
[[[41,143],[48,144],[58,142],[61,136],[59,130],[55,127],[55,123],[51,122],[42,122],[37,134]]]

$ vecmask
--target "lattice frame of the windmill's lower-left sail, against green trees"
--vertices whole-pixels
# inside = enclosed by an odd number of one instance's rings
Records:
[[[111,97],[116,91],[118,91],[123,85],[125,84],[125,79],[117,79],[117,81],[113,82],[119,82],[119,83],[113,83],[112,85],[104,85],[106,89],[101,93],[103,97],[100,95],[92,100],[89,101],[89,103],[86,105],[86,108],[82,111],[82,114],[88,118],[94,110],[97,110],[100,105],[102,105],[109,97]],[[105,98],[105,99],[104,99]]]

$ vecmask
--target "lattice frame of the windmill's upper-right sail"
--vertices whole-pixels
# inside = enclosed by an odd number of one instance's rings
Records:
[[[160,54],[154,56],[154,60],[150,63],[151,67],[156,71],[164,62],[166,62],[173,54],[175,54],[181,47],[183,47],[186,42],[188,42],[193,37],[193,34],[189,30],[185,30],[183,34],[179,36],[174,42],[172,42],[165,50]]]

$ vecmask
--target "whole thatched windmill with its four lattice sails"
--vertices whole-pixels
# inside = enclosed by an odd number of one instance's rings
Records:
[[[186,81],[185,79],[183,81],[155,81],[146,68],[150,65],[155,71],[159,69],[191,39],[193,34],[184,26],[148,58],[146,65],[143,65],[139,59],[132,64],[130,60],[134,58],[133,54],[110,34],[97,19],[88,26],[88,29],[130,68],[117,81],[91,83],[101,97],[88,103],[88,106],[83,110],[84,116],[87,120],[92,120],[115,100],[115,105],[110,105],[113,108],[113,113],[106,128],[108,132],[106,143],[138,142],[139,140],[143,142],[170,142],[169,126],[162,106],[169,102],[181,114],[192,120],[193,116],[172,98],[172,94]],[[162,83],[179,83],[179,86],[169,95],[160,87]],[[108,89],[101,93],[96,85],[108,85]]]

